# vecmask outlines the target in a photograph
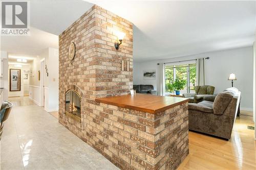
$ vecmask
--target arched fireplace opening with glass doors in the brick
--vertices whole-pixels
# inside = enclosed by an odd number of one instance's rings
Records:
[[[66,92],[66,113],[81,117],[81,97],[72,89]]]

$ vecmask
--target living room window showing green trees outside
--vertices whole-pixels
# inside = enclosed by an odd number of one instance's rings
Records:
[[[195,92],[195,85],[197,80],[196,64],[181,64],[181,65],[165,65],[165,92],[172,92],[168,84],[172,84],[175,79],[185,80],[186,86],[182,93],[193,93]]]

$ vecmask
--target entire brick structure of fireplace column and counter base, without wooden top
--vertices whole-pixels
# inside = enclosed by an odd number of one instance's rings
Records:
[[[116,30],[125,33],[118,51]],[[59,123],[121,169],[177,168],[188,154],[187,103],[152,114],[95,102],[127,94],[132,81],[131,22],[95,5],[59,35]],[[65,114],[69,89],[81,96],[80,121]]]

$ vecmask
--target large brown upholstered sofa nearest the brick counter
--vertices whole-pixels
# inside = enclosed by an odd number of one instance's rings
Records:
[[[227,89],[216,96],[204,96],[200,103],[189,103],[189,130],[230,139],[240,96],[240,91]]]

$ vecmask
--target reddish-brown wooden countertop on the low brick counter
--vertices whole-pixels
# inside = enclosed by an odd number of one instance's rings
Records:
[[[159,113],[188,102],[188,99],[137,93],[132,95],[127,94],[113,96],[109,98],[98,98],[95,101],[142,112]]]

